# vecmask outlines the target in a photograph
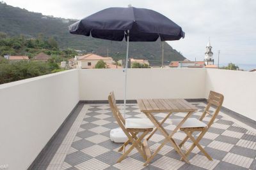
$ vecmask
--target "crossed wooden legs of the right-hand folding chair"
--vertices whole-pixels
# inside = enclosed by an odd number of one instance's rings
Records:
[[[188,152],[186,152],[185,155],[188,155],[188,154],[195,148],[195,146],[197,146],[197,147],[200,149],[200,151],[201,151],[202,153],[204,153],[204,155],[205,155],[205,157],[207,157],[207,159],[212,160],[212,157],[211,157],[211,156],[204,150],[204,148],[202,148],[202,146],[198,143],[198,142],[200,141],[200,139],[202,138],[202,136],[204,136],[205,131],[203,131],[203,132],[200,134],[200,136],[198,136],[197,139],[195,139],[195,138],[192,136],[191,132],[189,132],[189,131],[184,131],[184,132],[188,135],[188,137],[191,139],[191,141],[193,141],[193,145],[189,148]],[[202,135],[202,136],[201,136],[201,135]]]

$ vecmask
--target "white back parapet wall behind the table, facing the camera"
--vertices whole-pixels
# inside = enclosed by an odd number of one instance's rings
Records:
[[[205,69],[128,69],[127,99],[205,97]],[[124,99],[123,69],[80,69],[80,100]]]

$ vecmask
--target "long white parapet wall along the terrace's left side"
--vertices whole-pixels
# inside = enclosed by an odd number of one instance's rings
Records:
[[[0,85],[0,165],[28,169],[79,102],[78,70]]]

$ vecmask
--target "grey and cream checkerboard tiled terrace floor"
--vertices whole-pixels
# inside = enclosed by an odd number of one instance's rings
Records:
[[[205,104],[193,104],[198,107],[198,112],[193,117],[198,118],[204,111]],[[143,167],[144,161],[136,150],[127,159],[116,164],[121,155],[117,148],[121,144],[109,139],[109,131],[118,125],[108,104],[84,104],[80,110],[52,159],[47,164],[42,163],[42,159],[36,169],[256,169],[256,133],[248,131],[247,127],[241,127],[236,120],[224,113],[218,115],[200,142],[214,160],[209,161],[195,148],[189,156],[191,164],[186,164],[180,161],[172,146],[166,145],[148,166]],[[136,104],[129,104],[127,110],[127,117],[145,117]],[[163,113],[156,114],[159,120],[163,117]],[[184,113],[173,114],[166,120],[164,127],[171,131],[175,126],[170,124],[170,120],[182,117]],[[177,132],[174,138],[180,141],[184,136],[183,132]],[[154,151],[163,139],[160,132],[154,134],[148,143],[150,150]]]

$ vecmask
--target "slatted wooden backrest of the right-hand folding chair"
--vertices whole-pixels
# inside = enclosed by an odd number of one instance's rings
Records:
[[[202,116],[200,117],[200,120],[202,121],[202,120],[204,120],[206,113],[212,116],[211,120],[207,124],[208,128],[211,127],[215,118],[217,117],[218,113],[220,112],[223,100],[224,100],[224,96],[222,94],[219,94],[219,93],[213,92],[213,91],[210,92],[209,98],[207,100],[207,102],[208,102],[207,106],[205,107],[205,110],[204,110]],[[210,111],[209,111],[209,109],[211,108],[212,105],[215,106],[215,108],[216,108],[214,113],[210,113]]]

